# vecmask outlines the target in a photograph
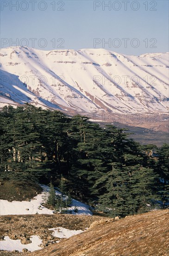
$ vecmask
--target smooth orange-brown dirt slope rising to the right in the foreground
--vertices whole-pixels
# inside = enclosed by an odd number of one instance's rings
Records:
[[[169,256],[169,210],[102,222],[31,256]]]

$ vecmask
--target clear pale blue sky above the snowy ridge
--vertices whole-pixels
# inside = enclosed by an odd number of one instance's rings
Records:
[[[168,52],[168,12],[168,0],[1,0],[0,47]]]

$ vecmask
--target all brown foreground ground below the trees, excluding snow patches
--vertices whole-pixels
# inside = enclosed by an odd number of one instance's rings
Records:
[[[69,239],[52,236],[50,228],[85,229]],[[45,248],[33,253],[0,251],[0,256],[169,256],[169,210],[114,220],[100,216],[23,215],[0,217],[4,236],[25,239],[38,235]],[[50,242],[52,240],[52,242]]]

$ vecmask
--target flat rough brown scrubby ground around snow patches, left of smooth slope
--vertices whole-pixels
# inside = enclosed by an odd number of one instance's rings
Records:
[[[67,214],[0,216],[0,240],[3,240],[4,236],[9,236],[11,239],[21,239],[21,243],[26,244],[29,243],[30,236],[38,235],[43,239],[45,247],[60,240],[52,236],[53,231],[49,230],[50,228],[63,227],[65,229],[85,230],[94,221],[108,219],[102,216],[74,216]],[[0,251],[0,255],[4,256],[20,254],[22,253]],[[41,255],[44,255],[43,250]]]

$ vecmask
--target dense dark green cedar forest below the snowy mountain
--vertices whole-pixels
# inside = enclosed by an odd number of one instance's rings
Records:
[[[141,145],[122,128],[25,104],[0,112],[0,178],[58,186],[110,216],[167,208],[169,145]],[[150,154],[156,151],[156,156]]]

